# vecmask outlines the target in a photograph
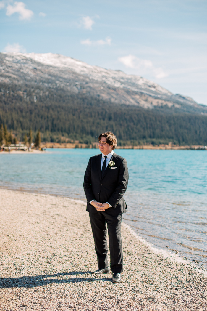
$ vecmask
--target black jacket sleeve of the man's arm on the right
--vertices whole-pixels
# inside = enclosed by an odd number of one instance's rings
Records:
[[[127,185],[128,185],[128,167],[126,159],[122,160],[122,163],[119,168],[119,179],[117,183],[117,187],[111,197],[107,200],[107,202],[116,208],[119,200],[123,197],[124,193],[126,192]]]

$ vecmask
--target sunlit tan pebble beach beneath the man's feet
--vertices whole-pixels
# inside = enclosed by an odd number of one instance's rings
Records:
[[[0,189],[0,310],[207,310],[207,276],[122,225],[124,272],[95,276],[86,203]]]

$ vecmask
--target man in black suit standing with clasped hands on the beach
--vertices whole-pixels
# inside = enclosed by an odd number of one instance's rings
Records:
[[[117,140],[113,133],[99,135],[101,154],[92,156],[84,176],[83,188],[87,199],[91,228],[98,259],[98,270],[92,273],[113,272],[113,283],[121,281],[123,255],[121,245],[121,218],[127,205],[124,193],[128,184],[126,159],[115,154]],[[110,268],[107,260],[106,223],[109,235]]]

